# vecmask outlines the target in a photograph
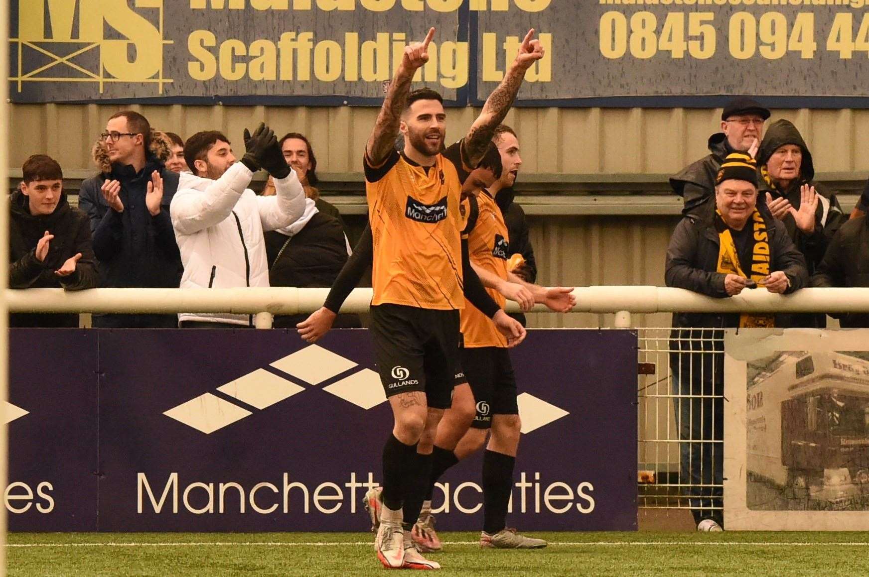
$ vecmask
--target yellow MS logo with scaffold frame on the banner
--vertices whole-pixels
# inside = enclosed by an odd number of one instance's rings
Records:
[[[107,82],[132,82],[162,94],[172,82],[163,78],[163,11],[163,0],[18,0],[10,80],[18,92],[24,82],[93,82],[100,94]]]

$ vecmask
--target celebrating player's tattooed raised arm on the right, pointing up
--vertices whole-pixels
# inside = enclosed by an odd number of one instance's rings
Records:
[[[480,162],[483,154],[486,153],[488,143],[492,140],[495,127],[504,121],[507,111],[513,105],[516,93],[519,92],[519,87],[525,78],[525,72],[534,62],[543,57],[543,47],[539,41],[532,40],[533,37],[534,29],[528,30],[519,54],[516,55],[501,84],[489,95],[482,112],[468,130],[468,135],[465,136],[465,160],[468,161],[468,167],[476,167]]]

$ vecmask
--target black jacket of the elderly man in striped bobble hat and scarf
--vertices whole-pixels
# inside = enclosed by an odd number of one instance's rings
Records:
[[[702,219],[686,217],[676,225],[667,247],[667,266],[664,273],[667,286],[700,292],[709,297],[726,298],[725,274],[716,272],[720,240],[713,223],[714,208],[709,207]],[[786,292],[794,292],[806,285],[806,259],[787,235],[780,220],[764,215],[769,233],[770,271],[785,272],[791,281]],[[745,290],[766,290],[745,289]],[[739,314],[717,312],[675,312],[673,328],[730,328],[740,325]],[[786,326],[780,315],[776,326]],[[673,338],[687,338],[691,331],[673,331]]]

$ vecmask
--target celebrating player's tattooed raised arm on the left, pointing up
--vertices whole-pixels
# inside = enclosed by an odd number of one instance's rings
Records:
[[[401,113],[408,103],[410,82],[416,70],[428,62],[428,44],[431,43],[432,38],[434,38],[434,28],[428,29],[428,35],[421,43],[408,44],[404,49],[401,64],[395,70],[392,82],[389,83],[386,98],[383,99],[380,114],[377,115],[375,128],[368,137],[368,144],[365,145],[365,154],[372,167],[381,166],[395,148]]]

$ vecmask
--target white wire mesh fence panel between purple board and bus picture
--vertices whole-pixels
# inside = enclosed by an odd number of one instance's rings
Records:
[[[724,335],[642,328],[638,376],[640,508],[720,516]]]

